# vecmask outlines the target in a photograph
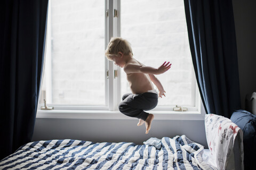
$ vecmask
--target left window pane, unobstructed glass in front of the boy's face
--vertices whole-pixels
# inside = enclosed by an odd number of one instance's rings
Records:
[[[52,0],[53,104],[105,105],[104,3]]]

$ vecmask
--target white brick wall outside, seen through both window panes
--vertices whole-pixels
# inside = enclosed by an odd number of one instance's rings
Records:
[[[52,0],[52,101],[105,104],[105,1]],[[191,103],[192,64],[183,1],[121,2],[121,35],[145,65],[172,68],[157,78],[166,98],[159,105]],[[130,92],[124,72],[122,94]]]

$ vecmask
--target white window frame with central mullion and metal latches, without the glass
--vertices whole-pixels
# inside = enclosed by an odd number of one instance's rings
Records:
[[[114,17],[114,9],[117,10],[117,17]],[[105,0],[105,49],[111,37],[121,36],[121,1]],[[47,18],[47,28],[51,28],[51,0]],[[45,60],[46,75],[46,101],[52,103],[52,77],[51,77],[51,29],[46,33],[46,52]],[[117,70],[117,77],[114,78],[114,70]],[[194,70],[192,70],[194,72]],[[105,106],[74,106],[74,105],[50,105],[52,110],[41,109],[43,104],[38,104],[37,118],[86,118],[86,119],[134,119],[125,116],[118,111],[118,103],[121,101],[121,70],[113,62],[105,58]],[[107,76],[108,72],[108,76]],[[202,105],[201,97],[196,86],[196,78],[193,77],[192,98],[193,106],[185,106],[188,111],[175,112],[175,106],[157,106],[150,113],[155,114],[155,120],[204,120],[205,110]],[[42,95],[42,94],[41,94]],[[50,97],[49,97],[50,96]]]

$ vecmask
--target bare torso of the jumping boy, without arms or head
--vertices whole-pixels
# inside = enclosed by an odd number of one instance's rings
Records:
[[[132,58],[127,64],[138,64],[143,65],[139,61]],[[125,66],[126,66],[125,65]],[[124,66],[124,70],[125,70]],[[151,82],[149,75],[145,73],[126,73],[127,80],[130,83],[130,88],[133,94],[142,94],[143,92],[148,92],[148,90],[153,90],[154,86]]]

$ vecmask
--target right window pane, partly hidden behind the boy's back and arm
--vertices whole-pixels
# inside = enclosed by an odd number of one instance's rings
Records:
[[[158,106],[193,105],[193,65],[183,1],[122,1],[121,34],[130,41],[134,57],[145,65],[172,67],[156,75],[166,91]],[[122,94],[130,91],[122,71]]]

